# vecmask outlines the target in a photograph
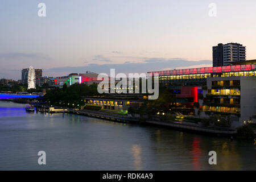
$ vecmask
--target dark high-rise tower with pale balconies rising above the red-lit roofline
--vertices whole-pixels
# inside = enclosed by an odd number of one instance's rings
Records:
[[[218,44],[212,47],[213,67],[232,65],[246,60],[246,47],[238,43]]]

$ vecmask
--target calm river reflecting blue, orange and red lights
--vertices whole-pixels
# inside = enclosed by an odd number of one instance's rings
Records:
[[[255,170],[254,141],[117,123],[76,114],[27,113],[0,101],[0,170]],[[46,152],[46,165],[38,152]],[[209,151],[217,164],[210,165]]]

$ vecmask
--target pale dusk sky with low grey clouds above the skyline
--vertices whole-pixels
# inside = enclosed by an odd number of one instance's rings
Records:
[[[46,17],[38,16],[40,2]],[[255,0],[1,0],[0,78],[18,80],[30,65],[43,76],[209,67],[212,46],[228,42],[256,59],[255,7]]]

